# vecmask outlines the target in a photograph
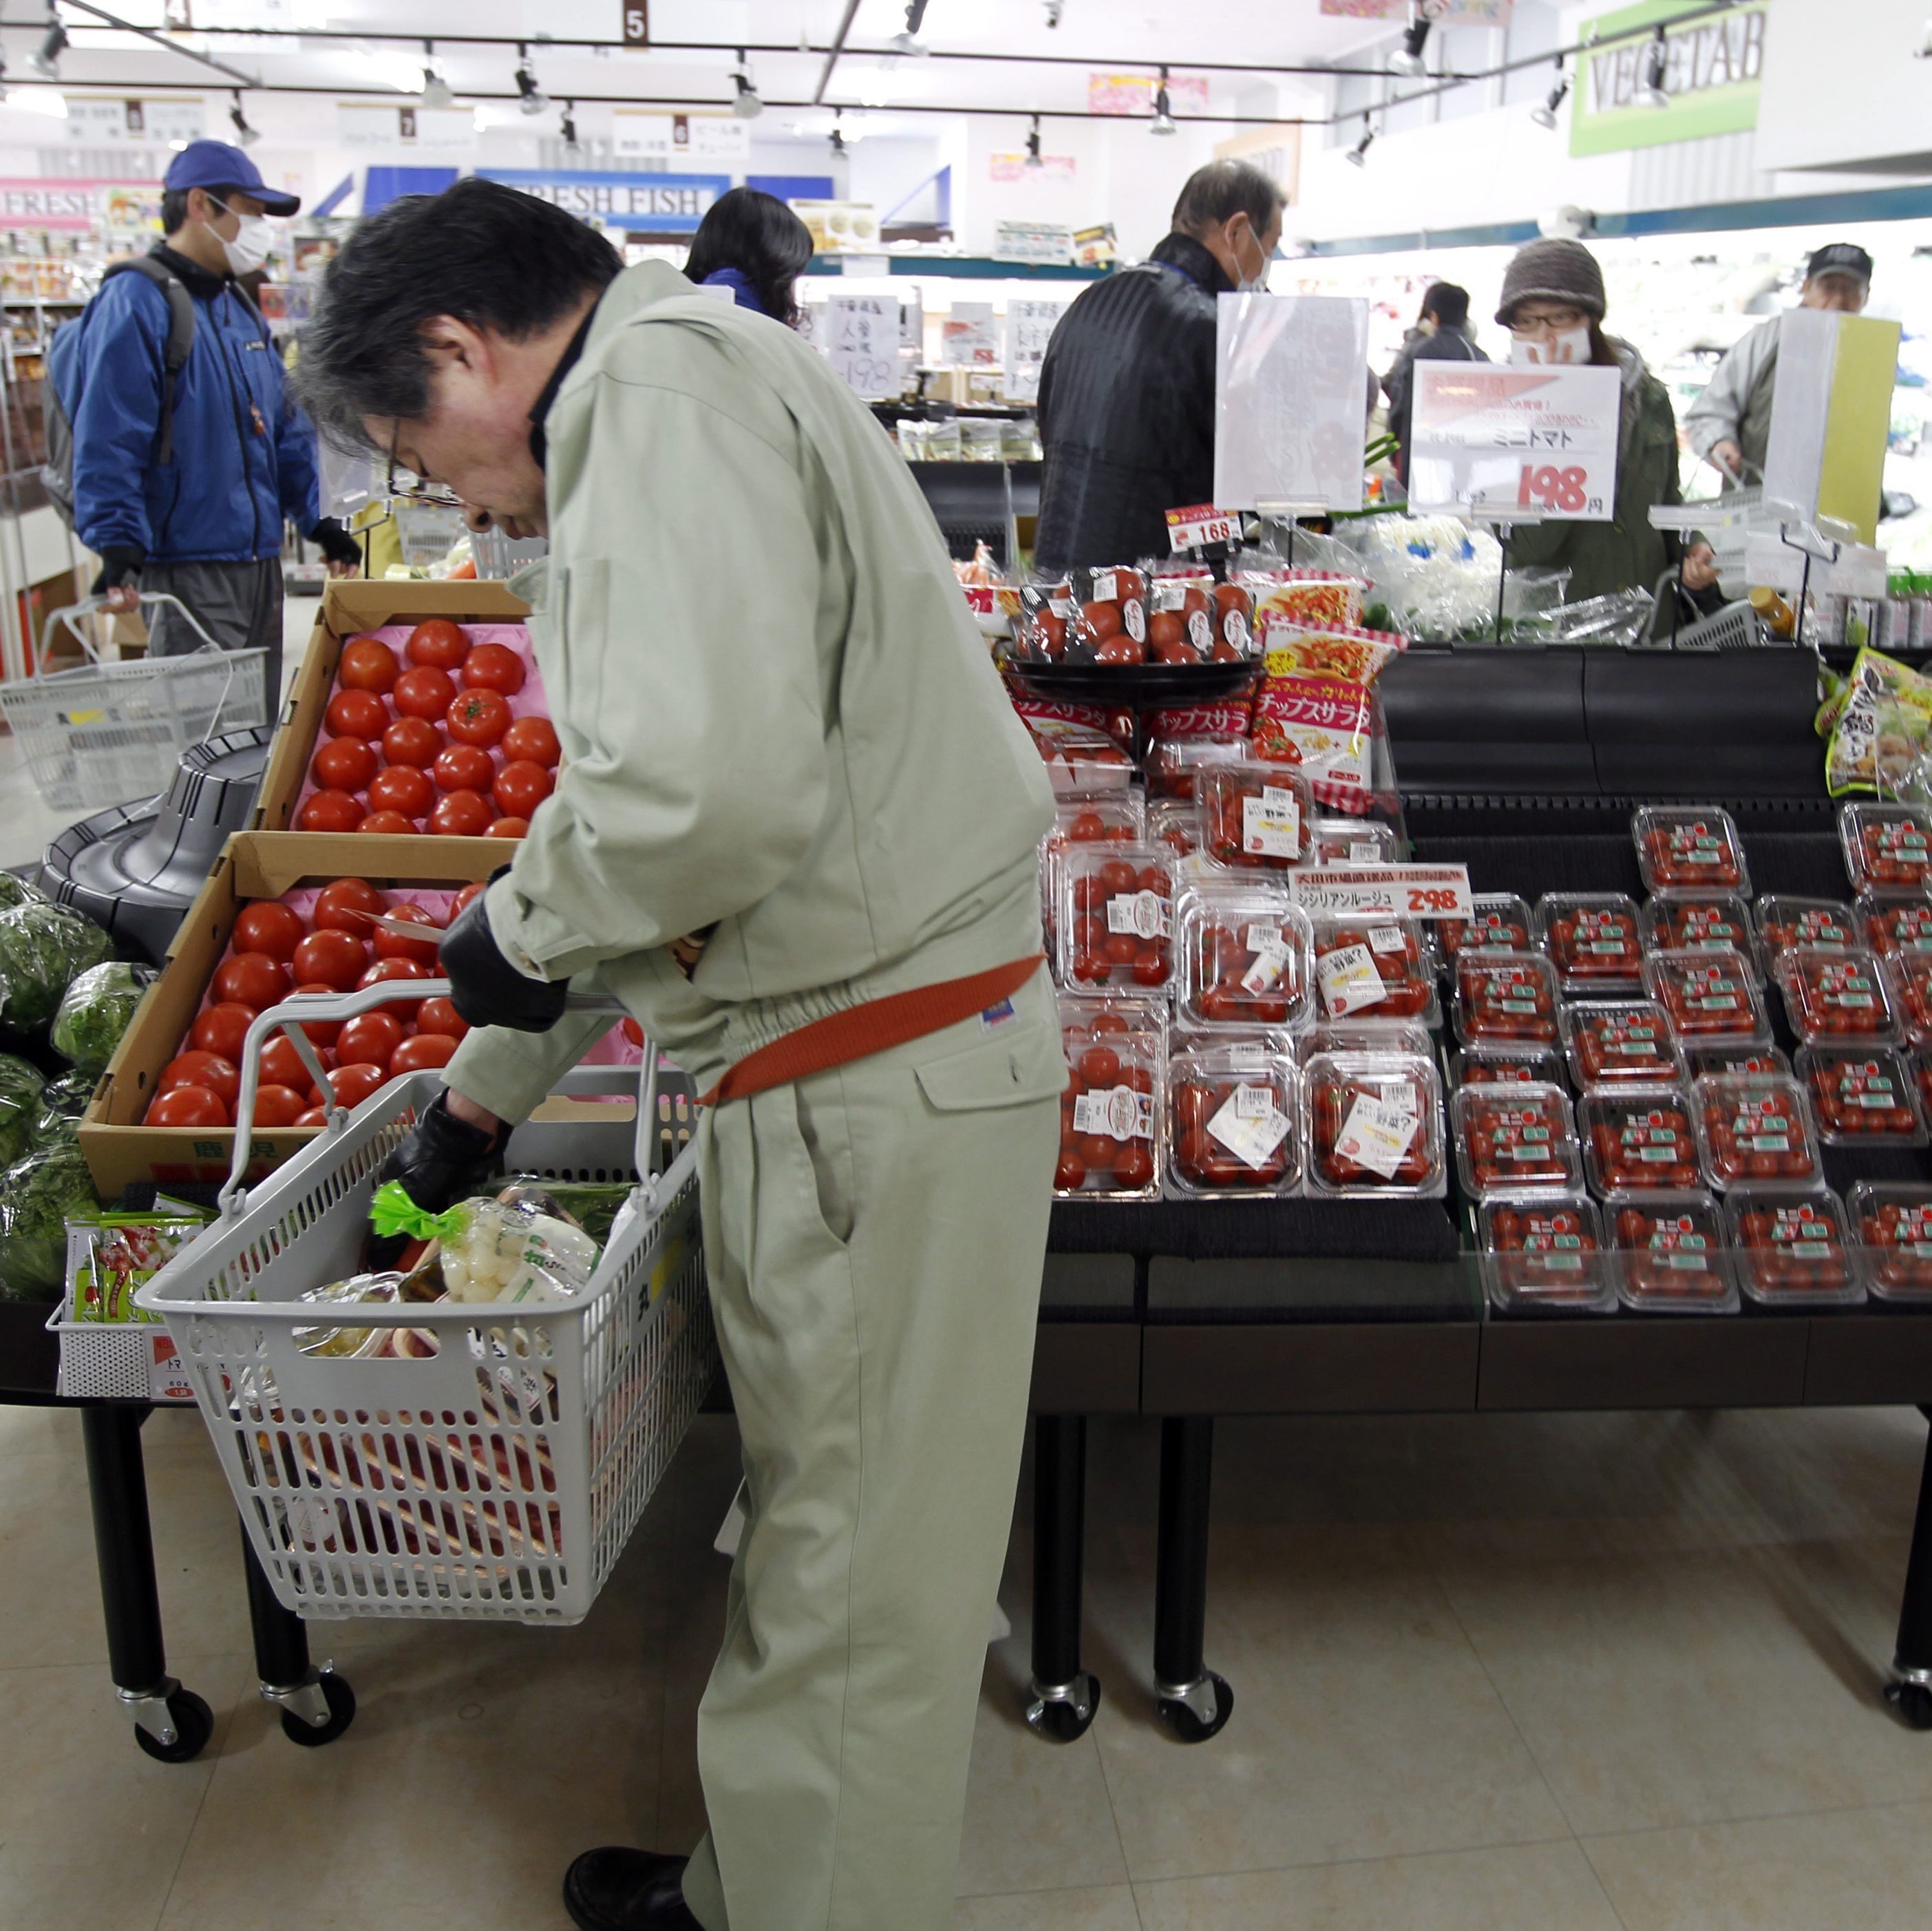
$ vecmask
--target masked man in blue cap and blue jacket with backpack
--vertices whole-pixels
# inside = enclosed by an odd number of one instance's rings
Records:
[[[270,719],[282,690],[282,520],[338,576],[361,561],[355,539],[321,516],[315,431],[236,286],[269,259],[269,216],[299,207],[240,147],[191,141],[162,182],[166,238],[108,271],[54,369],[73,423],[73,528],[100,557],[95,591],[112,611],[135,609],[137,591],[170,591],[224,649],[267,649]],[[185,360],[170,369],[189,321]],[[168,605],[155,611],[153,655],[199,642]]]

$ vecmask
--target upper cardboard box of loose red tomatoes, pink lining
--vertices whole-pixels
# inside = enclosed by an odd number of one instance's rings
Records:
[[[255,827],[522,837],[558,742],[502,584],[330,584]]]

